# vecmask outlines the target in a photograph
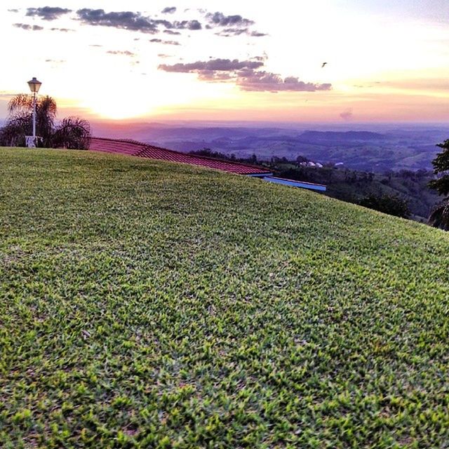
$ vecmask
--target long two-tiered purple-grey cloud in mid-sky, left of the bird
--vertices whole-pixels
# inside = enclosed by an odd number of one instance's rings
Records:
[[[315,92],[330,91],[330,83],[307,83],[296,76],[283,78],[279,74],[260,70],[264,58],[251,60],[212,59],[190,63],[161,64],[159,69],[173,73],[195,73],[201,81],[233,81],[243,91],[257,92]]]

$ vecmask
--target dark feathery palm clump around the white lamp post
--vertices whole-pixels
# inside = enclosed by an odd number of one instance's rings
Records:
[[[79,117],[67,117],[55,127],[57,106],[51,97],[40,97],[36,101],[36,135],[40,147],[64,147],[88,149],[91,127]],[[15,95],[8,104],[9,116],[0,128],[0,145],[25,147],[25,135],[32,134],[33,96]]]

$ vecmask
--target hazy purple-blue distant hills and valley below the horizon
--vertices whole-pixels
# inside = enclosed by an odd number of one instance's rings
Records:
[[[320,163],[384,172],[430,169],[438,152],[436,144],[449,138],[449,126],[93,123],[93,133],[182,152],[210,148],[236,157],[255,154],[259,160],[305,156]]]

